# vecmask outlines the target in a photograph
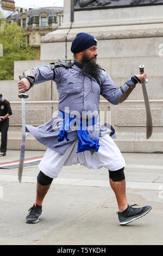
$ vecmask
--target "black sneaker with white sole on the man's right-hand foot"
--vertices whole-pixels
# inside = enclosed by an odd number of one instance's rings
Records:
[[[128,205],[128,208],[123,212],[117,212],[121,225],[126,225],[131,221],[137,220],[137,218],[141,218],[152,209],[151,205],[144,206],[142,208],[133,208],[135,205],[137,204]]]

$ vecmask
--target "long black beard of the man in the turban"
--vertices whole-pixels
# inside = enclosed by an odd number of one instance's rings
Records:
[[[84,74],[90,76],[92,76],[93,74],[99,74],[100,66],[96,62],[91,62],[88,57],[83,56],[81,63],[83,65],[82,71]]]

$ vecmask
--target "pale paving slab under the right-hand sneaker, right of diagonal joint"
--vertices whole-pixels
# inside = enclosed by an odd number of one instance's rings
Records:
[[[35,244],[53,245],[55,242],[55,245],[162,245],[163,205],[147,202],[141,196],[135,195],[136,192],[128,192],[131,201],[137,201],[141,205],[150,203],[153,208],[148,215],[139,220],[124,227],[119,225],[115,214],[115,200],[112,199],[79,220],[69,223],[68,227],[43,237]]]

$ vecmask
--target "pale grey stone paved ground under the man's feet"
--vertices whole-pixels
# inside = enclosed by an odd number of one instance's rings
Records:
[[[26,158],[43,153],[26,151]],[[38,165],[23,169],[21,184],[18,169],[0,169],[0,245],[162,245],[163,186],[158,189],[163,183],[162,154],[123,156],[126,181],[133,187],[127,188],[128,203],[152,205],[148,215],[121,227],[108,170],[78,164],[62,168],[43,202],[39,223],[26,224],[28,209],[35,202]],[[8,151],[0,163],[19,157],[20,151]]]

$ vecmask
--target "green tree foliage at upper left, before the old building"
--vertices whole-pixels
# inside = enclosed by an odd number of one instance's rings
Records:
[[[14,61],[33,60],[39,54],[38,50],[27,46],[26,35],[20,26],[14,23],[4,23],[0,28],[0,44],[3,44],[3,57],[0,57],[0,80],[14,79]]]

